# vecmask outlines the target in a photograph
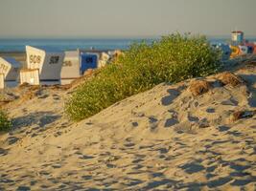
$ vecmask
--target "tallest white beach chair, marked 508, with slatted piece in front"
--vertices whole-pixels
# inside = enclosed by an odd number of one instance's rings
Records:
[[[26,46],[27,63],[25,69],[20,73],[20,83],[37,85],[40,84],[59,84],[60,73],[64,58],[63,52],[50,49],[39,49]],[[36,72],[38,70],[38,72]],[[38,75],[35,76],[35,75]],[[29,78],[29,77],[32,78]]]

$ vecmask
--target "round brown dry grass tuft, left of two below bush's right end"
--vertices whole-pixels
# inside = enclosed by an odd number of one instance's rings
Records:
[[[211,84],[206,80],[193,81],[189,86],[189,90],[193,96],[203,95],[207,93],[211,88]]]

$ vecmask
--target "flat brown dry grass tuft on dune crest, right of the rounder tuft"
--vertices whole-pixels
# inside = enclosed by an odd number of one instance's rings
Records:
[[[221,81],[223,85],[230,85],[232,87],[236,87],[238,85],[244,84],[244,79],[242,77],[230,72],[218,74],[217,78]]]

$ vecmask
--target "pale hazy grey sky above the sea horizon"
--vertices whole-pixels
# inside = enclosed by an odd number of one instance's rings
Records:
[[[256,36],[256,0],[0,0],[0,38]]]

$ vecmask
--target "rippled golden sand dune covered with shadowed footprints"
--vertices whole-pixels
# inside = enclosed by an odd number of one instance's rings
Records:
[[[11,90],[0,190],[256,190],[256,67],[235,73],[244,84],[209,76],[200,96],[193,80],[160,84],[78,123],[70,91]]]

